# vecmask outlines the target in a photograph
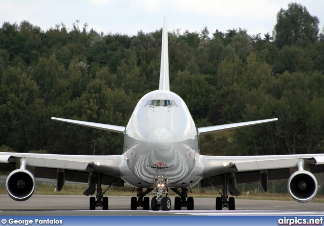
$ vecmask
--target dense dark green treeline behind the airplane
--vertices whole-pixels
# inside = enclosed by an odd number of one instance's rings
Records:
[[[275,123],[201,137],[201,153],[324,152],[324,36],[304,6],[281,9],[272,35],[244,29],[169,32],[171,90],[196,126],[277,117]],[[161,29],[103,34],[27,21],[0,28],[2,151],[120,154],[123,136],[51,117],[126,126],[158,88]]]

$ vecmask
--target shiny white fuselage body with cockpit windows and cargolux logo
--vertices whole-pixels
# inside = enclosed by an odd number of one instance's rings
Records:
[[[197,129],[178,95],[158,90],[138,102],[124,133],[124,159],[135,175],[126,182],[150,187],[154,177],[164,176],[169,187],[188,187],[199,155]]]

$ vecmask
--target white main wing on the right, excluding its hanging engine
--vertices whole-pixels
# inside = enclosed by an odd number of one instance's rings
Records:
[[[270,179],[285,179],[290,177],[298,167],[298,162],[303,160],[310,166],[310,171],[324,171],[324,154],[301,154],[301,155],[265,155],[265,156],[207,156],[201,155],[204,164],[203,177],[208,180],[216,179],[223,173],[234,172],[238,178],[237,183],[257,182],[259,172],[268,170],[275,174]],[[291,169],[295,169],[291,171]],[[240,178],[240,175],[245,175]],[[253,178],[255,177],[255,178]],[[205,179],[206,180],[206,179]],[[220,180],[222,182],[222,180]],[[208,185],[210,186],[210,185]]]

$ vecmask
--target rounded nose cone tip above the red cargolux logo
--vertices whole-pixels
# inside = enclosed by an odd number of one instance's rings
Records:
[[[174,146],[173,134],[166,128],[156,128],[148,134],[146,145],[149,151],[156,150],[165,157],[171,155]]]

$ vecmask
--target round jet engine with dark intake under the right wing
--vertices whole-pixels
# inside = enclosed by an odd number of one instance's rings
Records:
[[[308,202],[317,194],[316,177],[306,170],[294,172],[288,179],[288,192],[298,202]]]

